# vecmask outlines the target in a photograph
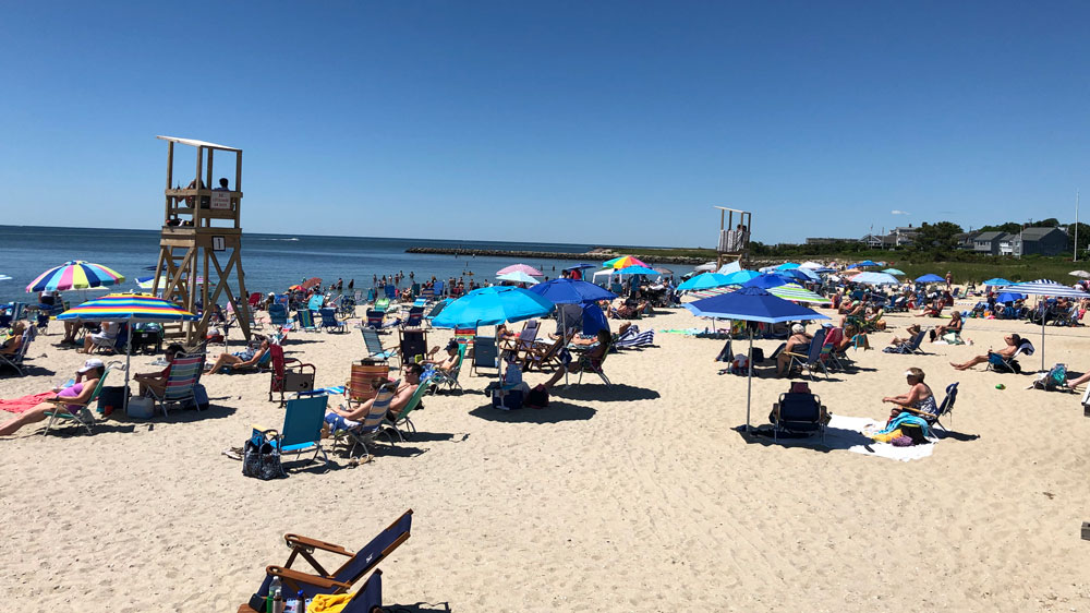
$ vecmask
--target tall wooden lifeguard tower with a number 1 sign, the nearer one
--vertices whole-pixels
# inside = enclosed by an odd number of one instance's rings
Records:
[[[153,293],[182,303],[192,312],[197,304],[204,314],[197,322],[167,324],[168,338],[184,338],[195,346],[204,340],[208,322],[221,293],[238,316],[242,334],[250,339],[250,303],[245,275],[242,272],[242,227],[239,216],[242,203],[242,149],[173,136],[156,136],[167,141],[167,189],[162,232],[159,238],[159,262],[156,264]],[[196,148],[196,175],[186,187],[174,183],[174,145]],[[234,154],[234,184],[213,183],[215,152]],[[203,175],[203,177],[202,177]],[[227,181],[225,178],[223,181]],[[214,189],[215,188],[215,189]],[[232,291],[232,281],[238,292]],[[209,286],[215,289],[209,291]]]

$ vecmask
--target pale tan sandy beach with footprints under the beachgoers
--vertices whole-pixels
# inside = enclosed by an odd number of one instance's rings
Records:
[[[27,428],[0,440],[0,602],[230,612],[283,562],[281,534],[354,550],[412,508],[412,537],[380,565],[386,603],[408,611],[1090,609],[1090,542],[1079,538],[1090,420],[1078,397],[948,365],[1009,332],[1040,351],[1040,327],[970,320],[974,346],[883,353],[913,320],[887,315],[894,329],[872,335],[877,349],[853,353],[859,372],[811,384],[834,414],[881,420],[881,398],[905,392],[908,366],[938,397],[960,382],[953,432],[909,462],[742,436],[746,378],[717,374],[723,341],[662,333],[656,347],[609,357],[613,387],[585,376],[542,410],[494,410],[481,393],[494,377],[463,372],[465,393],[428,397],[411,441],[355,468],[338,448],[330,470],[280,481],[245,478],[221,455],[251,424],[282,423],[268,374],[206,376],[207,411],[114,417],[94,435]],[[682,309],[638,324],[704,325]],[[449,336],[433,330],[429,344]],[[84,357],[59,339],[52,322],[31,374],[0,378],[0,397],[74,371]],[[1087,328],[1050,327],[1046,364],[1083,372],[1088,344]],[[766,354],[775,345],[758,342]],[[319,385],[343,383],[363,356],[354,328],[292,333],[284,348],[316,365]],[[133,370],[155,370],[150,360],[134,357]],[[1036,371],[1040,353],[1021,363]],[[754,380],[754,424],[787,387]]]

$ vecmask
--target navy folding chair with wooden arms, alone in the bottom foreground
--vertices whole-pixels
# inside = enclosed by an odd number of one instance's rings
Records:
[[[269,586],[272,584],[274,577],[280,578],[283,593],[298,593],[302,590],[304,596],[313,598],[319,593],[348,592],[356,581],[375,570],[383,561],[393,553],[393,550],[409,540],[411,529],[412,509],[409,509],[355,553],[330,542],[299,534],[284,534],[283,541],[291,549],[291,554],[282,566],[267,566],[265,568],[265,580],[250,599],[250,608],[253,611],[264,611],[265,598],[269,593]],[[314,558],[315,551],[341,555],[348,560],[339,568],[329,573]],[[311,565],[310,572],[292,568],[292,564],[299,558]],[[364,589],[360,591],[364,591]],[[371,611],[367,610],[367,613]]]

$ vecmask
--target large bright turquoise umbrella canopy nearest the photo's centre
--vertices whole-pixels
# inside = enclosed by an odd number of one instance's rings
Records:
[[[518,287],[474,289],[447,305],[432,321],[438,328],[495,326],[549,314],[553,302]]]

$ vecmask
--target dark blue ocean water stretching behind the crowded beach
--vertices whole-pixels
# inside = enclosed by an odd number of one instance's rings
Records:
[[[373,275],[382,277],[398,272],[408,275],[410,271],[415,273],[417,280],[433,275],[440,279],[464,275],[468,284],[470,273],[479,280],[494,278],[496,271],[517,263],[530,264],[549,278],[555,278],[561,268],[583,263],[576,260],[520,262],[510,257],[405,253],[410,247],[583,253],[594,245],[246,233],[242,239],[246,290],[281,291],[307,277],[320,277],[324,285],[340,277],[344,279],[346,288],[354,278],[355,288],[366,290],[372,286]],[[125,283],[117,286],[118,289],[134,290],[137,276],[155,274],[154,269],[146,271],[145,267],[155,266],[158,256],[157,230],[0,226],[0,275],[12,277],[11,280],[0,280],[0,302],[34,300],[26,293],[26,286],[45,271],[70,260],[86,260],[109,266],[125,276]],[[237,285],[233,287],[237,288]],[[65,298],[78,302],[102,293],[106,291],[74,290],[65,292]],[[225,300],[221,297],[220,301]]]

